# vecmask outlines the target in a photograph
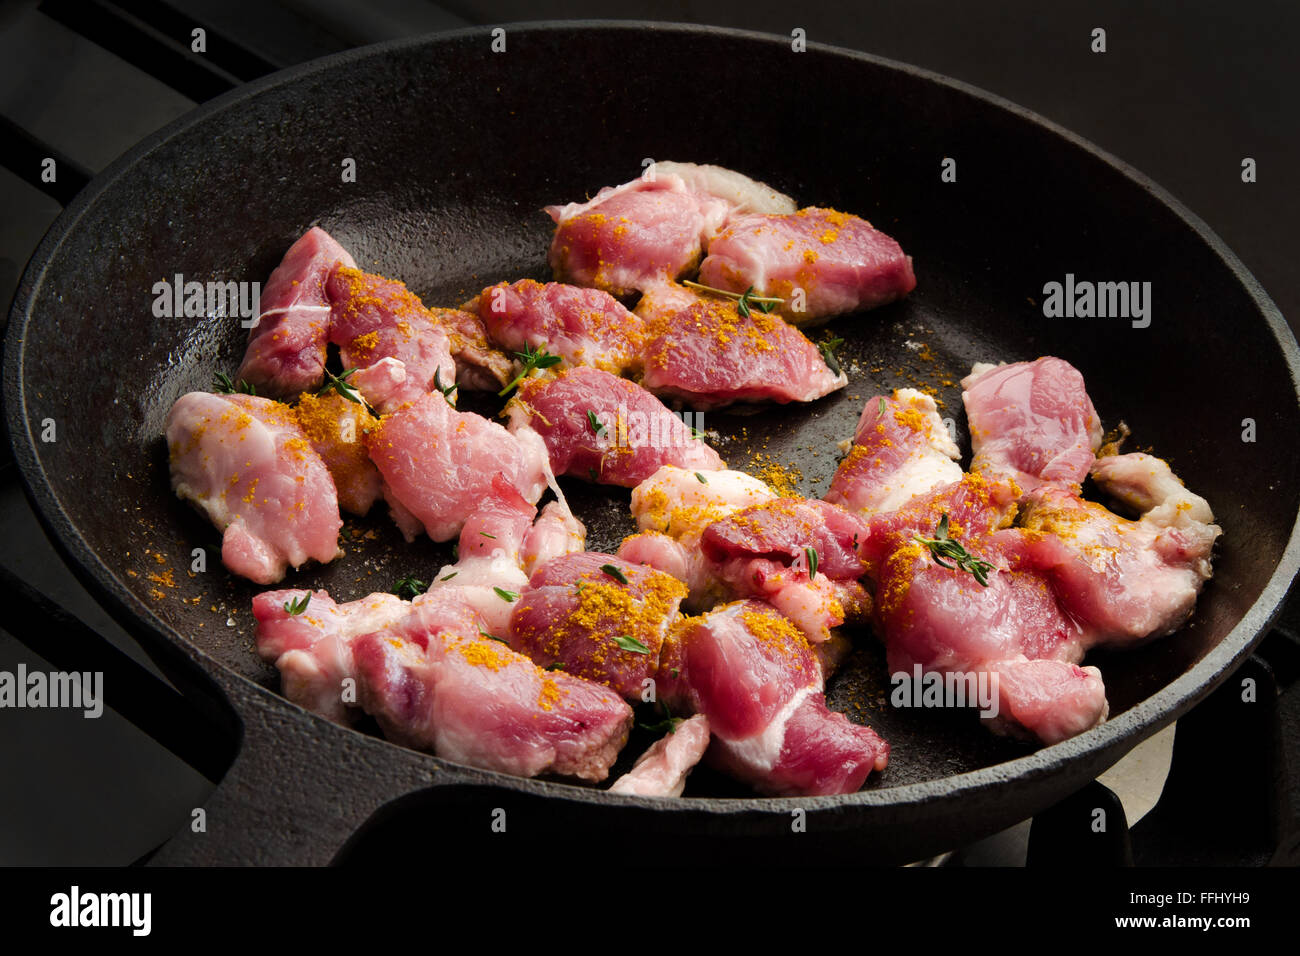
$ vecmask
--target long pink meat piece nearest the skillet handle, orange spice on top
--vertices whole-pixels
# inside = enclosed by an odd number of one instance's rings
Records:
[[[360,701],[385,736],[520,777],[608,777],[632,709],[608,688],[478,633],[452,597],[426,594],[402,622],[356,640]]]

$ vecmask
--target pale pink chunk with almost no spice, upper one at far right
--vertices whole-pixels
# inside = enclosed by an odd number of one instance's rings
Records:
[[[976,365],[962,380],[975,458],[971,471],[1005,475],[1023,490],[1078,485],[1101,445],[1101,420],[1069,362],[1045,356]]]

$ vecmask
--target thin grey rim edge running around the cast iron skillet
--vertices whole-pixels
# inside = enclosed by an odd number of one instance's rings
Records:
[[[239,104],[251,100],[264,91],[282,85],[289,85],[306,77],[328,73],[355,61],[369,60],[372,57],[382,60],[395,51],[404,51],[416,47],[434,47],[442,43],[454,43],[469,36],[485,34],[495,26],[504,26],[508,33],[515,34],[542,34],[550,31],[568,33],[645,33],[658,34],[685,34],[694,38],[701,36],[728,36],[742,40],[755,40],[762,43],[785,43],[788,38],[780,34],[766,34],[753,30],[740,30],[732,27],[716,27],[697,23],[673,23],[655,21],[630,20],[572,20],[572,21],[525,21],[517,23],[486,25],[465,27],[451,31],[424,34],[420,36],[402,38],[386,43],[358,47],[326,57],[298,64],[285,70],[280,70],[268,77],[244,83],[226,94],[222,94],[207,103],[199,104],[195,109],[185,113],[164,127],[146,137],[129,151],[113,160],[103,172],[96,174],[64,212],[55,220],[46,233],[36,251],[23,271],[18,290],[14,294],[13,306],[9,313],[9,328],[4,342],[4,399],[5,423],[9,429],[9,441],[13,449],[13,458],[18,466],[20,476],[34,510],[56,545],[64,559],[69,563],[77,576],[88,585],[91,593],[101,600],[113,617],[122,622],[127,632],[147,641],[146,650],[151,656],[162,654],[173,657],[176,653],[183,654],[190,661],[205,671],[209,678],[217,679],[222,687],[222,697],[228,706],[233,706],[229,682],[235,682],[247,698],[250,693],[265,695],[280,706],[289,706],[303,714],[309,714],[281,695],[269,691],[261,684],[238,674],[233,669],[217,662],[200,646],[191,644],[178,631],[159,619],[152,610],[118,580],[117,574],[100,559],[99,554],[91,549],[82,537],[78,527],[64,511],[53,486],[46,476],[40,455],[36,450],[35,436],[27,415],[27,395],[23,378],[23,358],[26,349],[26,330],[34,317],[34,306],[39,306],[39,295],[44,273],[51,260],[57,255],[62,242],[75,232],[81,219],[92,209],[96,200],[113,189],[118,179],[124,178],[136,165],[147,161],[148,156],[161,144],[172,140],[177,135],[199,126],[228,109],[238,108]],[[1290,326],[1282,317],[1280,311],[1269,298],[1258,280],[1245,268],[1227,245],[1191,209],[1184,207],[1176,198],[1164,187],[1153,182],[1136,168],[1123,160],[1101,150],[1096,144],[1070,130],[1046,120],[1037,113],[1026,109],[1002,96],[982,90],[963,81],[945,77],[932,70],[913,66],[910,64],[889,60],[887,57],[846,49],[823,43],[809,43],[809,52],[823,56],[835,56],[872,66],[905,74],[910,78],[926,83],[946,87],[948,90],[974,98],[988,105],[998,108],[1024,121],[1032,126],[1045,130],[1049,134],[1063,139],[1070,147],[1082,150],[1092,159],[1101,161],[1130,179],[1135,186],[1148,193],[1156,202],[1170,209],[1183,225],[1191,229],[1209,247],[1209,250],[1227,267],[1238,282],[1242,284],[1282,352],[1283,362],[1291,375],[1291,384],[1300,406],[1300,346]],[[1204,658],[1197,661],[1187,672],[1179,675],[1156,693],[1135,704],[1113,719],[1108,719],[1084,734],[1065,740],[1060,744],[1043,747],[1032,753],[1017,757],[1010,761],[994,763],[979,770],[940,777],[919,783],[900,784],[897,787],[874,788],[820,797],[672,797],[670,800],[649,797],[632,797],[608,793],[603,790],[590,790],[575,784],[519,778],[508,774],[484,771],[467,767],[460,763],[445,761],[433,754],[421,754],[430,761],[432,767],[447,771],[471,771],[469,778],[495,786],[503,786],[523,792],[538,792],[547,796],[562,796],[580,803],[601,803],[614,806],[647,806],[656,809],[703,809],[711,813],[740,813],[754,809],[770,812],[786,812],[796,808],[802,809],[848,809],[858,806],[893,806],[924,804],[936,799],[956,799],[974,796],[989,791],[1000,784],[1018,780],[1043,779],[1058,773],[1065,773],[1072,763],[1083,763],[1089,757],[1114,760],[1123,756],[1128,749],[1141,743],[1141,740],[1157,732],[1169,722],[1176,719],[1192,706],[1199,704],[1216,687],[1222,684],[1235,671],[1239,665],[1262,640],[1269,626],[1280,613],[1282,605],[1290,593],[1295,579],[1300,572],[1300,514],[1292,523],[1291,535],[1283,549],[1282,557],[1260,592],[1258,598],[1242,614],[1236,624],[1223,635],[1219,643]],[[237,713],[239,713],[237,710]],[[240,721],[243,714],[239,713]],[[320,721],[337,730],[343,730],[378,744],[391,747],[404,753],[412,753],[408,748],[400,748],[382,737],[360,734],[351,728],[338,727],[325,718],[312,714]],[[381,749],[380,753],[384,753]],[[415,752],[420,753],[420,752]],[[235,757],[238,760],[238,756]],[[1100,770],[1097,771],[1100,773]],[[455,774],[450,774],[455,777]],[[1096,775],[1096,774],[1092,774]],[[450,783],[450,782],[448,782]],[[217,784],[221,786],[220,783]],[[437,786],[437,784],[436,784]]]

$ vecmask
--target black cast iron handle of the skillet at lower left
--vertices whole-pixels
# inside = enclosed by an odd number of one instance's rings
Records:
[[[344,731],[217,667],[209,674],[240,717],[239,752],[202,814],[142,862],[322,866],[382,805],[460,782],[428,754]]]

